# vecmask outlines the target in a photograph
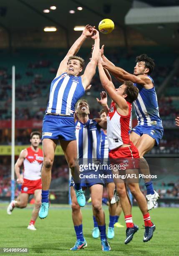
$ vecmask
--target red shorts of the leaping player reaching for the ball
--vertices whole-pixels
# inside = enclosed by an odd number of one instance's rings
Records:
[[[121,165],[121,170],[139,169],[139,151],[131,145],[125,148],[115,148],[109,152],[111,164]]]

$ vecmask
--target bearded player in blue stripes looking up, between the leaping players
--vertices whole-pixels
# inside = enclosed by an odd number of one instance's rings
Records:
[[[76,141],[77,141],[77,157],[79,164],[88,165],[93,164],[100,160],[100,139],[101,128],[106,129],[106,120],[100,118],[89,119],[89,105],[86,100],[79,100],[76,104]],[[102,209],[102,196],[103,196],[103,180],[99,178],[96,169],[88,169],[81,172],[83,177],[81,178],[81,187],[86,189],[89,187],[91,192],[91,202],[93,206],[93,212],[98,224],[98,228],[101,234],[101,246],[102,251],[110,251],[111,248],[106,238],[106,224],[105,215]],[[96,175],[97,177],[90,177],[90,175]],[[88,176],[86,176],[88,175]],[[87,242],[83,237],[83,225],[82,225],[82,213],[80,205],[77,203],[75,191],[73,189],[74,180],[71,179],[71,201],[72,201],[72,219],[76,232],[76,243],[71,248],[72,251],[85,248]]]

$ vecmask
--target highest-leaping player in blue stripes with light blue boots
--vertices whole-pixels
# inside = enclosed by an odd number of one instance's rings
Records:
[[[81,75],[84,61],[75,55],[87,37],[94,39],[95,47],[91,61],[86,66],[84,74]],[[44,161],[42,167],[40,218],[46,218],[48,215],[48,189],[50,187],[51,169],[58,141],[60,141],[72,176],[75,178],[75,174],[79,172],[73,114],[76,102],[90,86],[91,79],[96,72],[98,53],[99,32],[94,27],[87,25],[82,35],[75,41],[65,58],[61,61],[57,75],[51,83],[50,97],[42,128]],[[75,184],[75,191],[77,202],[83,207],[86,200],[79,181]]]

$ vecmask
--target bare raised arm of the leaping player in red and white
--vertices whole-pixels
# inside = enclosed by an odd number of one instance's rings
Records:
[[[108,95],[118,105],[118,107],[121,110],[124,110],[124,111],[128,110],[129,107],[124,97],[122,97],[121,95],[118,95],[115,88],[111,86],[111,82],[106,76],[103,66],[101,64],[101,58],[99,58],[99,61],[98,61],[98,70],[99,70],[99,77],[101,80],[101,84],[103,88],[106,90],[106,92],[108,93]]]

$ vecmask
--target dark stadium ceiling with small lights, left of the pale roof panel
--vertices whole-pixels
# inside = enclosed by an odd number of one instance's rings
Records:
[[[120,2],[120,3],[119,3]],[[41,31],[45,26],[73,31],[74,26],[98,25],[111,18],[119,26],[131,8],[132,0],[0,0],[0,26],[10,31]],[[106,4],[107,3],[107,4]],[[56,6],[56,10],[43,13]],[[77,10],[82,7],[83,10]],[[69,10],[75,10],[74,14]]]

